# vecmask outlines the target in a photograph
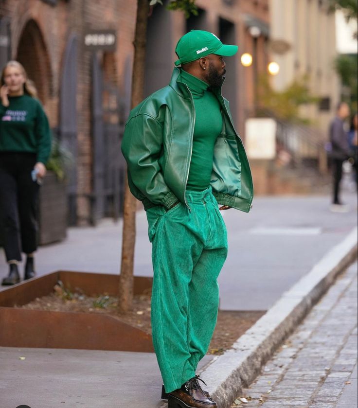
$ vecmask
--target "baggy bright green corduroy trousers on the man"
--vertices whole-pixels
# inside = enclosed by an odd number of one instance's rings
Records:
[[[152,337],[166,392],[195,376],[207,353],[219,305],[217,277],[227,232],[211,188],[187,191],[190,210],[147,210],[154,269]]]

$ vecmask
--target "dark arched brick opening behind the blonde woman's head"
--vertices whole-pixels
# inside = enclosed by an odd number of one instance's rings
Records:
[[[16,59],[34,81],[40,101],[46,104],[53,93],[52,71],[46,44],[35,20],[29,20],[22,30]]]

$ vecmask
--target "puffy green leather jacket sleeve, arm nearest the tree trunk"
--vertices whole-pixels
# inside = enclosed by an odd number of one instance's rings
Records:
[[[133,184],[153,204],[169,209],[178,198],[164,181],[159,158],[163,144],[162,125],[148,114],[139,114],[125,125],[122,152]]]

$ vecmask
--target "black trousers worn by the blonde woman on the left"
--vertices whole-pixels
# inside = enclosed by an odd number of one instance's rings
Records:
[[[0,218],[7,261],[37,248],[39,185],[32,180],[36,154],[0,152]]]

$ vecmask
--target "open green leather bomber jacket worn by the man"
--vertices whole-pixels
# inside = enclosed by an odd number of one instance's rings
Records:
[[[156,205],[169,209],[178,200],[187,205],[185,188],[195,108],[187,85],[177,81],[179,72],[175,68],[170,84],[136,106],[125,124],[122,152],[128,166],[129,188],[143,202],[144,209]],[[248,213],[253,198],[249,162],[221,87],[215,94],[224,120],[215,142],[210,184],[219,204]]]

